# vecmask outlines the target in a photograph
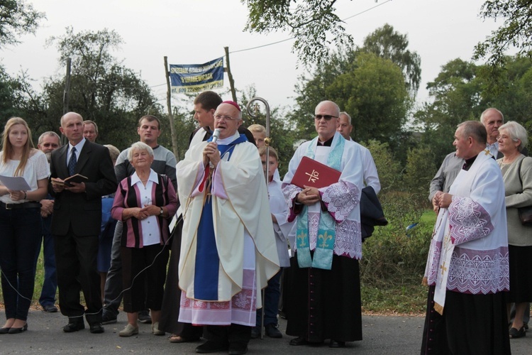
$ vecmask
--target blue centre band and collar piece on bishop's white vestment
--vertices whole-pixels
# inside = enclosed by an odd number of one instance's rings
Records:
[[[207,141],[212,141],[212,137]],[[244,134],[240,134],[235,141],[225,145],[218,145],[220,155],[228,154],[227,160],[238,143],[247,142]],[[211,193],[211,184],[204,193]],[[204,207],[199,219],[198,234],[196,236],[196,263],[194,265],[194,299],[217,301],[218,300],[218,271],[220,258],[216,248],[216,236],[214,234],[214,221],[212,214],[212,199],[205,199]]]

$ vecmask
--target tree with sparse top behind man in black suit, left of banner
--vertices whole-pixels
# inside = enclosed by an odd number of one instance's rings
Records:
[[[148,84],[111,54],[122,43],[115,31],[74,33],[67,28],[65,35],[48,43],[57,45],[60,64],[72,59],[69,109],[98,124],[99,142],[126,148],[138,139],[135,127],[140,116],[160,116],[162,107]],[[46,119],[55,126],[62,116],[64,87],[62,77],[51,78],[44,87]]]

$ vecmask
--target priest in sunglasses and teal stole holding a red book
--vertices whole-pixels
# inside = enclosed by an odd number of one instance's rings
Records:
[[[336,131],[340,109],[320,102],[314,124],[318,136],[303,143],[290,160],[283,192],[289,202],[289,221],[297,218],[296,250],[284,283],[287,334],[291,345],[331,347],[362,340],[360,275],[362,257],[360,148]],[[326,187],[292,184],[301,158],[307,156],[341,172],[338,182]]]

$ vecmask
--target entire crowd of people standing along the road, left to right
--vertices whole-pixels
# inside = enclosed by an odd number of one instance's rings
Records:
[[[39,302],[57,312],[59,291],[63,332],[86,320],[102,333],[123,302],[120,337],[151,323],[172,343],[204,338],[198,353],[245,354],[250,339],[282,338],[281,308],[292,346],[362,340],[361,207],[381,185],[370,151],[350,137],[349,114],[319,102],[316,137],[297,148],[283,178],[265,128],[245,129],[237,103],[202,92],[194,118],[199,128],[179,162],[157,142],[160,121],[151,115],[140,117],[139,141],[121,153],[96,143],[96,122],[75,112],[60,119],[63,146],[48,131],[35,149],[26,121],[7,121],[0,334],[28,329],[42,246]],[[532,198],[526,129],[490,108],[454,138],[429,193],[438,217],[423,278],[421,354],[510,354],[532,300],[523,267],[532,232],[521,222]]]

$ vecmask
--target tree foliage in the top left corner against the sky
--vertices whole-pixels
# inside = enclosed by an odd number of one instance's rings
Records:
[[[45,14],[24,0],[0,0],[0,47],[20,43],[18,36],[35,33]]]

